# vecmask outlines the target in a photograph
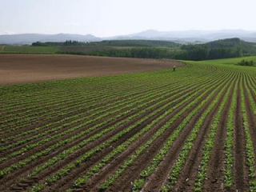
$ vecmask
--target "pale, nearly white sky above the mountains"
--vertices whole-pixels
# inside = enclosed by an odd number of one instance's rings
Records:
[[[0,0],[0,34],[256,30],[255,0]]]

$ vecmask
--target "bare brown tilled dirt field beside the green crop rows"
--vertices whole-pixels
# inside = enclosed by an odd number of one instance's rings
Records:
[[[0,54],[0,85],[128,74],[182,66],[167,59],[106,58],[79,55]]]

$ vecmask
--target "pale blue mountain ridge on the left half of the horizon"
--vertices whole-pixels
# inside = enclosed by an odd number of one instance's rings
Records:
[[[91,34],[3,34],[0,35],[0,44],[25,45],[33,42],[65,42],[66,40],[78,42],[97,42],[97,38]]]

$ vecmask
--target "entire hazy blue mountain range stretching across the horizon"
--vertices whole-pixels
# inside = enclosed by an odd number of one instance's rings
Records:
[[[179,43],[211,42],[224,38],[240,38],[246,42],[256,42],[256,31],[250,30],[145,30],[136,34],[98,38],[91,34],[9,34],[0,35],[0,44],[31,44],[32,42],[99,42],[102,40],[162,40]]]

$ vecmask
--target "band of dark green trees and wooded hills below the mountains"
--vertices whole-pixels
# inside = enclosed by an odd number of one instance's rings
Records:
[[[256,54],[256,46],[239,38],[228,38],[205,44],[181,45],[175,42],[153,40],[112,40],[102,42],[34,42],[32,46],[83,46],[90,51],[61,49],[60,54],[89,54],[96,56],[126,58],[174,58],[183,60],[207,60],[217,58],[238,58]],[[119,47],[116,48],[115,46]],[[107,49],[106,49],[107,48]]]

